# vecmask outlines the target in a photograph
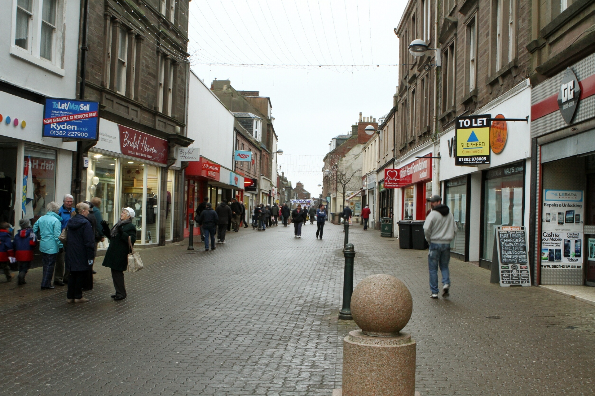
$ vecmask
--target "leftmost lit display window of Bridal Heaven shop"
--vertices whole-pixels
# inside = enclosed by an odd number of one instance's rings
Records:
[[[89,154],[87,201],[93,197],[101,199],[101,217],[111,228],[116,221],[114,214],[120,213],[119,208],[115,207],[115,172],[118,169],[118,160],[101,154]]]

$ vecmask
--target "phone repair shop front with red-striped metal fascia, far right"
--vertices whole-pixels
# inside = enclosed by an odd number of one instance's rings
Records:
[[[533,88],[538,284],[595,286],[595,55]]]

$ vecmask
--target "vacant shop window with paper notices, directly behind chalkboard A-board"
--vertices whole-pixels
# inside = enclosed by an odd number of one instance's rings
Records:
[[[491,260],[497,226],[523,225],[524,163],[487,170],[482,258]]]

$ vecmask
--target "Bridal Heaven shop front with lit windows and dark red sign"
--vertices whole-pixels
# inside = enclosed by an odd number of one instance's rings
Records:
[[[89,150],[86,200],[99,198],[99,210],[109,224],[120,210],[136,211],[136,244],[151,247],[176,239],[174,207],[179,167],[168,167],[168,141],[101,119],[99,141]],[[108,241],[99,244],[107,248]]]

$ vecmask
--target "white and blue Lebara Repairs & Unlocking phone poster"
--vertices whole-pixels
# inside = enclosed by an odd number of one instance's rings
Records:
[[[583,191],[544,190],[541,268],[583,268]]]

